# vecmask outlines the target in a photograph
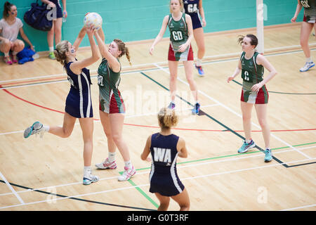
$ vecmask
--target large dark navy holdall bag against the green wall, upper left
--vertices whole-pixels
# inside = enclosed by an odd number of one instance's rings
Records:
[[[41,6],[37,2],[32,3],[31,8],[24,14],[24,21],[36,30],[51,30],[54,10],[55,8],[50,9],[44,3]]]

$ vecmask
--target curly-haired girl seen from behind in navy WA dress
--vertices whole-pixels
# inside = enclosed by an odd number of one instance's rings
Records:
[[[180,211],[187,211],[190,208],[189,195],[176,169],[177,158],[187,158],[187,148],[185,141],[171,132],[171,127],[178,123],[178,116],[175,110],[162,108],[158,114],[158,122],[161,131],[148,137],[140,156],[142,160],[150,161],[147,157],[150,153],[152,155],[150,192],[160,201],[159,211],[168,209],[170,198],[179,204]]]

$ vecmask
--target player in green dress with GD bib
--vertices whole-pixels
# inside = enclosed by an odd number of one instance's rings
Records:
[[[170,1],[170,12],[171,14],[166,15],[162,22],[162,28],[154,39],[154,43],[150,48],[150,54],[154,51],[154,46],[162,40],[166,27],[169,27],[170,31],[170,44],[168,54],[168,64],[170,71],[170,92],[171,92],[171,103],[169,108],[173,109],[176,107],[176,81],[178,76],[178,62],[183,61],[185,68],[185,77],[190,85],[190,90],[193,97],[195,98],[195,106],[192,109],[193,114],[199,113],[200,103],[197,96],[197,84],[193,79],[193,51],[191,46],[191,40],[193,38],[192,31],[192,20],[190,15],[182,13],[183,1],[182,0],[171,0]]]

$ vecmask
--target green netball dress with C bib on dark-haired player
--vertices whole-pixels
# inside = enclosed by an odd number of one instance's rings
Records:
[[[258,91],[251,91],[251,87],[254,84],[258,84],[263,81],[263,73],[264,68],[263,65],[258,65],[256,63],[256,58],[258,56],[258,52],[255,51],[254,56],[249,59],[246,59],[245,52],[242,53],[240,57],[240,61],[242,63],[242,96],[240,98],[241,101],[252,104],[265,104],[268,103],[269,94],[268,90],[263,85],[261,89]]]

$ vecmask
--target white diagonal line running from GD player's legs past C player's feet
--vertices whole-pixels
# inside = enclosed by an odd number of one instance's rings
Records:
[[[162,68],[161,66],[157,65],[157,64],[153,64],[154,66],[156,66],[157,68],[159,68],[160,70],[163,70],[164,72],[166,72],[167,74],[170,75],[170,72],[168,70],[166,70],[165,68]],[[179,77],[177,77],[177,79],[182,82],[183,84],[190,86],[187,82],[185,82],[183,79],[180,79]],[[231,113],[234,113],[235,115],[237,115],[238,117],[242,118],[242,115],[240,115],[239,113],[235,112],[234,110],[230,109],[228,106],[224,105],[223,103],[220,103],[219,101],[217,101],[215,98],[212,98],[211,96],[209,96],[208,94],[204,93],[204,91],[198,90],[198,92],[204,96],[206,96],[206,98],[209,98],[211,101],[216,102],[218,105],[222,106],[223,108],[229,110]],[[257,124],[255,124],[254,122],[251,122],[251,124],[253,124],[255,127],[261,129],[260,126],[258,126]],[[281,141],[282,143],[284,143],[286,146],[289,146],[290,148],[293,148],[294,150],[297,150],[294,146],[291,146],[289,143],[287,143],[286,141],[283,141],[282,139],[280,139],[279,137],[275,136],[275,134],[270,134],[272,137],[274,137],[275,139],[277,139],[278,141]],[[301,155],[304,155],[305,158],[310,159],[310,156],[306,155],[305,153],[302,153],[300,150],[297,150],[298,153],[301,153]]]

